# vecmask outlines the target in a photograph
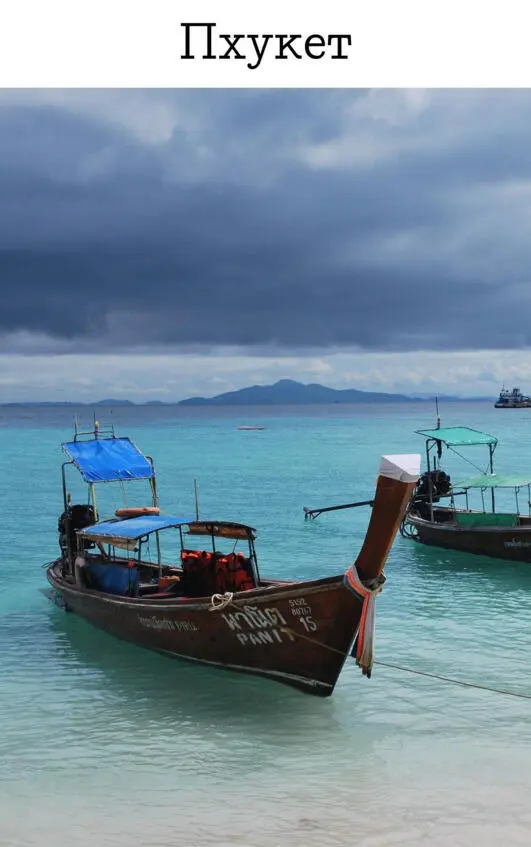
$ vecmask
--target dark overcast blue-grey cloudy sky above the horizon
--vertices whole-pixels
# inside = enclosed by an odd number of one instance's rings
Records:
[[[0,92],[0,402],[531,391],[531,92]]]

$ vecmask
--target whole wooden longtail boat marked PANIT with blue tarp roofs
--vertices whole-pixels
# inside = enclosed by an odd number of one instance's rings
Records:
[[[95,428],[62,447],[68,461],[62,467],[61,555],[47,569],[50,599],[141,647],[321,697],[332,694],[353,644],[357,663],[370,676],[375,597],[418,481],[419,455],[382,458],[354,564],[336,576],[295,582],[260,576],[252,527],[161,513],[153,461],[129,439]],[[71,502],[69,465],[88,483],[87,503]],[[139,479],[149,481],[152,504],[100,520],[95,485]],[[166,563],[162,533],[170,535],[170,551],[173,545]]]

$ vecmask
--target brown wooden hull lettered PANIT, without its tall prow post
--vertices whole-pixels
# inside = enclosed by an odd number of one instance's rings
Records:
[[[60,605],[111,635],[321,697],[334,690],[362,612],[362,601],[345,587],[343,575],[277,582],[242,592],[215,611],[210,598],[150,601],[79,589],[63,579],[60,563],[47,577]]]

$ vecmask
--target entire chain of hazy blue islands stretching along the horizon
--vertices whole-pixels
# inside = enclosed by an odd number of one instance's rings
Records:
[[[356,388],[327,388],[313,382],[304,385],[293,379],[280,379],[273,385],[251,385],[238,391],[226,391],[214,397],[188,397],[175,403],[163,400],[147,400],[134,403],[132,400],[97,400],[93,403],[72,401],[42,401],[4,403],[5,406],[318,406],[348,405],[354,403],[426,403],[435,395],[412,397],[407,394],[386,394],[379,391],[359,391]],[[452,397],[439,394],[439,400],[447,402],[489,401],[490,397]]]

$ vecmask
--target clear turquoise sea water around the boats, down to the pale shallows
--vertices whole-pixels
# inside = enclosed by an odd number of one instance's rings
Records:
[[[38,589],[72,414],[0,407],[1,845],[529,844],[529,700],[383,666],[368,681],[352,661],[318,700],[150,654],[52,606]],[[500,471],[531,470],[531,410],[442,414],[498,435]],[[421,450],[413,430],[433,417],[428,404],[113,413],[154,457],[164,510],[193,514],[197,478],[201,516],[256,526],[262,573],[295,578],[344,570],[368,518],[305,522],[302,507],[370,497],[380,455]],[[267,428],[236,430],[256,422]],[[481,448],[467,455],[484,464]],[[531,566],[399,538],[387,576],[377,659],[531,694]]]

